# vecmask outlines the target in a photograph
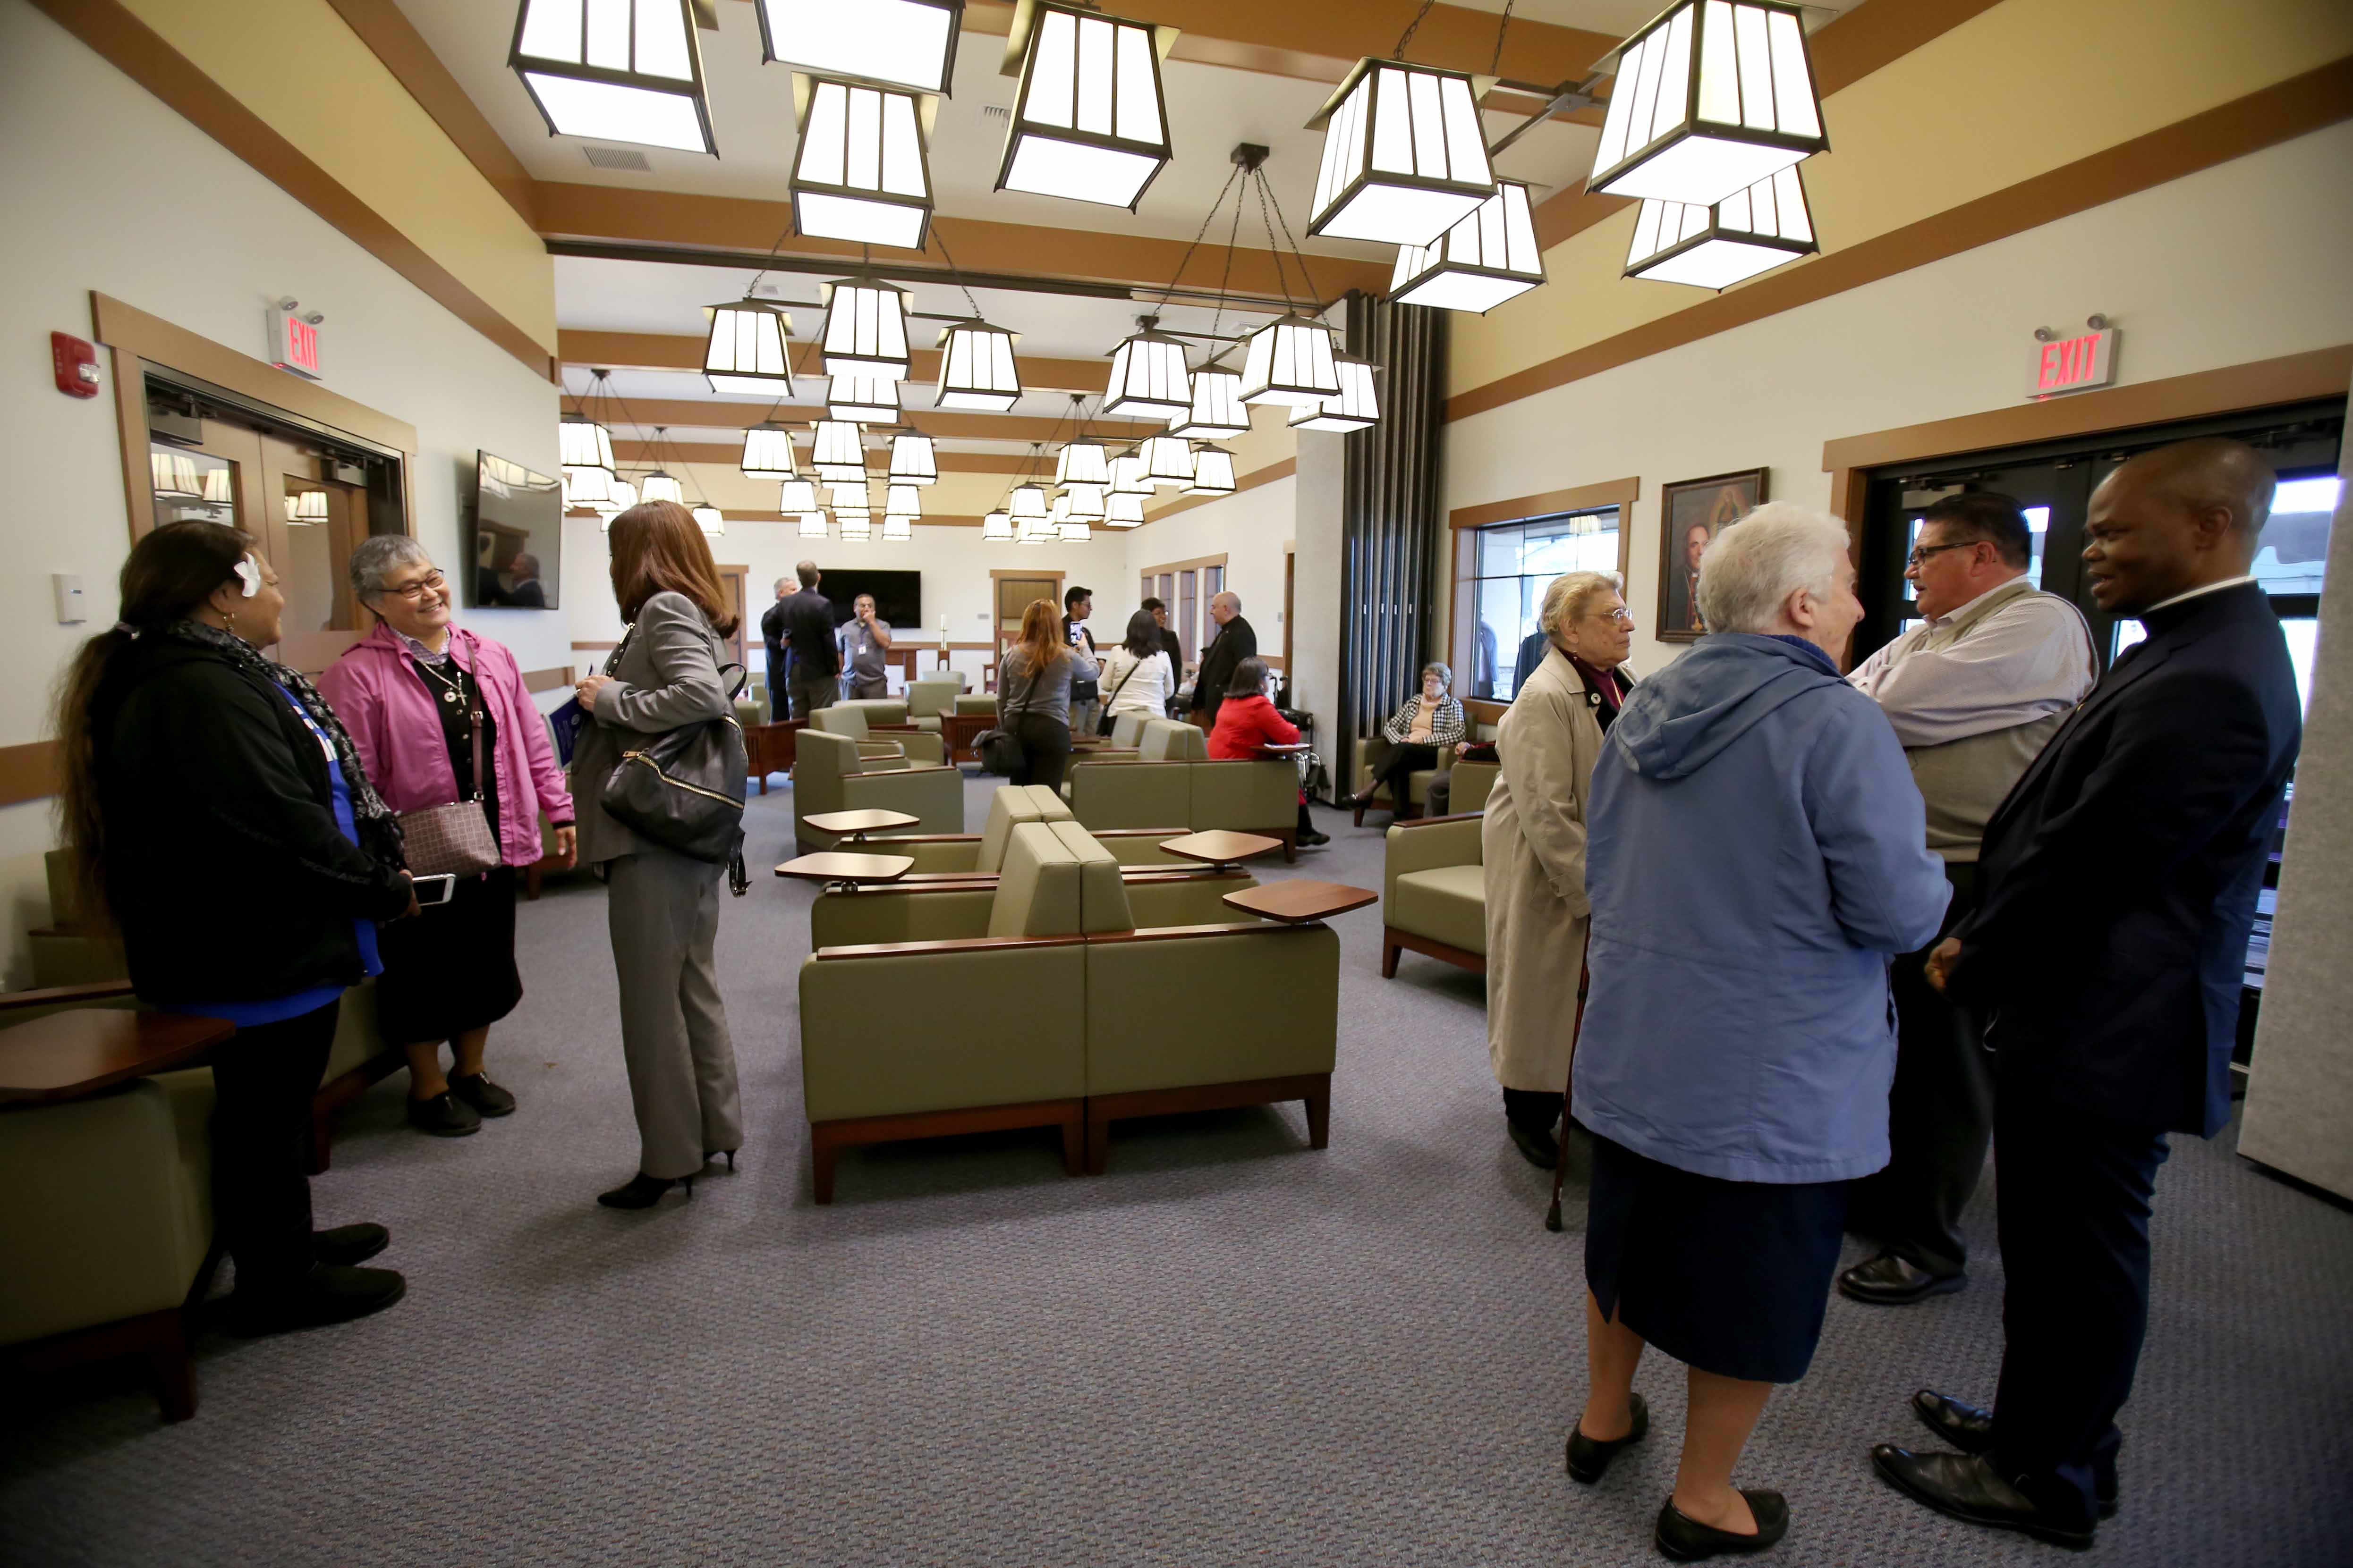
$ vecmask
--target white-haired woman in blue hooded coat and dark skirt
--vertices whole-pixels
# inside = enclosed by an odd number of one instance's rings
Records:
[[[1885,715],[1838,677],[1861,621],[1847,527],[1762,505],[1708,545],[1713,628],[1633,689],[1593,773],[1591,994],[1572,1074],[1593,1133],[1591,1392],[1569,1474],[1647,1429],[1645,1345],[1689,1368],[1657,1544],[1760,1552],[1779,1493],[1732,1467],[1821,1338],[1847,1182],[1887,1164],[1887,961],[1946,879]]]

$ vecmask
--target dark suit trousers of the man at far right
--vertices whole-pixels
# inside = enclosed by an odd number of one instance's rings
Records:
[[[2148,1201],[2165,1133],[2054,1103],[1998,1074],[1993,1180],[2002,1192],[2002,1380],[1995,1469],[2092,1526],[2115,1497],[2115,1413],[2148,1333]]]

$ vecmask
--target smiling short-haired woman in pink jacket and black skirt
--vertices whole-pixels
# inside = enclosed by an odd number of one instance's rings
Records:
[[[409,1124],[456,1138],[515,1110],[515,1095],[482,1070],[482,1046],[522,999],[515,867],[539,860],[541,811],[555,825],[558,865],[572,865],[572,795],[515,656],[449,625],[454,590],[424,545],[402,534],[362,541],[351,552],[351,592],[376,614],[376,630],[318,689],[393,811],[475,795],[471,715],[482,712],[480,797],[501,865],[461,877],[449,903],[379,936],[376,1027],[409,1053]],[[447,1077],[442,1041],[456,1053]]]

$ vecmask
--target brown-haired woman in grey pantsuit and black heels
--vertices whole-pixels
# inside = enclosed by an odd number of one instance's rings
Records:
[[[640,837],[605,811],[621,755],[687,724],[732,719],[720,679],[727,611],[711,545],[675,501],[645,501],[612,520],[612,597],[628,635],[602,675],[579,684],[584,724],[572,752],[579,858],[602,867],[612,966],[621,985],[621,1056],[638,1110],[638,1175],[598,1194],[607,1208],[652,1208],[715,1154],[744,1145],[734,1041],[711,950],[720,933],[720,875]]]

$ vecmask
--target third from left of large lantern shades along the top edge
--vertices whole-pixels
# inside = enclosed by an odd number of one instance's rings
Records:
[[[1160,61],[1176,28],[1016,0],[1005,75],[1021,75],[998,190],[1134,209],[1174,155]]]

